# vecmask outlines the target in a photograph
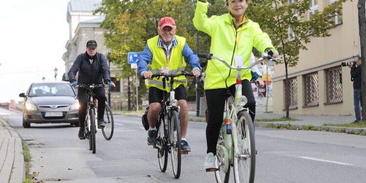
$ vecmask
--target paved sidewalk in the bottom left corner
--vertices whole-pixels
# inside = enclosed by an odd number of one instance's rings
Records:
[[[0,183],[21,183],[25,179],[21,152],[18,133],[0,118]]]

